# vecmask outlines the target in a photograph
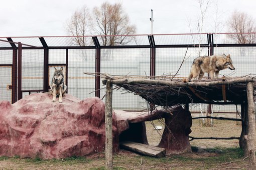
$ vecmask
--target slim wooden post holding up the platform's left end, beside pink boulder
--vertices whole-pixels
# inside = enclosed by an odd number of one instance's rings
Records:
[[[106,81],[106,99],[105,99],[105,167],[113,169],[113,137],[112,137],[112,81]]]

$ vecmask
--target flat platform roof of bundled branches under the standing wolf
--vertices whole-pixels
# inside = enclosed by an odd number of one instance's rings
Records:
[[[127,76],[98,73],[103,84],[111,80],[117,87],[140,95],[152,104],[173,106],[183,103],[240,104],[247,100],[246,85],[253,81],[256,101],[256,80],[251,76],[222,77],[184,82],[162,76]],[[254,79],[253,79],[254,78]]]

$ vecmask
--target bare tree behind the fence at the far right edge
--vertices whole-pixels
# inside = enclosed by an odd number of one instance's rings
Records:
[[[228,37],[234,39],[237,43],[255,43],[256,26],[252,17],[244,12],[235,10],[228,19],[228,31],[234,32]]]

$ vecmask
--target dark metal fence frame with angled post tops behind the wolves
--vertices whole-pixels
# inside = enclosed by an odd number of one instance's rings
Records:
[[[191,34],[191,33],[188,33]],[[197,34],[197,33],[195,33]],[[0,47],[0,50],[11,49],[13,50],[13,63],[12,64],[0,64],[0,66],[9,65],[12,66],[12,103],[22,98],[23,92],[40,92],[48,91],[49,89],[49,66],[56,64],[49,64],[49,49],[66,49],[66,63],[58,63],[57,65],[66,66],[66,84],[68,85],[68,50],[69,49],[95,49],[95,72],[100,72],[100,58],[101,58],[101,49],[104,48],[150,48],[150,75],[154,76],[156,74],[156,49],[157,48],[193,48],[193,47],[206,47],[208,48],[208,55],[214,54],[214,47],[233,47],[233,46],[256,46],[256,43],[214,43],[214,34],[216,33],[202,33],[207,36],[207,43],[205,44],[156,44],[154,39],[154,34],[144,35],[148,36],[149,45],[114,45],[114,46],[102,46],[99,43],[99,36],[90,36],[93,40],[94,45],[92,46],[49,46],[45,40],[45,37],[39,36],[36,38],[40,39],[42,46],[33,46],[24,44],[22,42],[14,42],[12,37],[2,37],[0,41],[8,42],[11,44],[11,47]],[[155,35],[173,35],[173,34],[155,34]],[[175,35],[184,35],[184,34],[175,34]],[[133,35],[136,36],[136,35]],[[54,37],[54,36],[53,36]],[[57,36],[56,36],[57,37]],[[64,36],[62,36],[64,37]],[[88,37],[88,36],[87,36]],[[7,40],[4,40],[6,38]],[[22,38],[22,37],[21,37]],[[26,37],[29,38],[29,37]],[[35,37],[34,37],[35,38]],[[18,46],[17,46],[18,44]],[[22,50],[23,49],[43,49],[44,50],[44,85],[43,89],[35,90],[22,90]],[[100,97],[100,76],[95,76],[95,96]],[[17,93],[15,92],[17,91]]]

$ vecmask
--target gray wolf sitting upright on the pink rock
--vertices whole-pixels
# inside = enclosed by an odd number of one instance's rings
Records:
[[[64,83],[63,67],[61,67],[60,69],[55,68],[50,87],[51,87],[51,93],[53,94],[52,101],[55,102],[56,95],[58,95],[59,102],[62,102],[62,96],[66,94],[66,90],[67,90],[67,85],[65,85]]]

